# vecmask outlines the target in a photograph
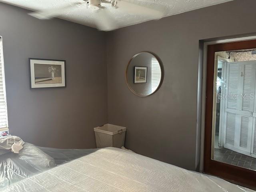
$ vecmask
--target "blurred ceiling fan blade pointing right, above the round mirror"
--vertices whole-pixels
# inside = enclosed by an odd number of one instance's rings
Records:
[[[118,0],[117,6],[120,10],[128,13],[152,16],[152,18],[156,19],[166,16],[167,11],[166,6],[150,1],[146,1],[146,4],[143,4],[138,0]]]

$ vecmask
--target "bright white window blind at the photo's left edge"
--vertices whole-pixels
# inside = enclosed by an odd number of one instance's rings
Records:
[[[6,92],[4,81],[4,56],[2,37],[0,36],[0,131],[8,130]]]

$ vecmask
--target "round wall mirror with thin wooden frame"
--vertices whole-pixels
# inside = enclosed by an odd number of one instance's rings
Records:
[[[161,86],[164,70],[160,59],[153,53],[140,52],[134,55],[126,68],[126,83],[136,95],[146,97]]]

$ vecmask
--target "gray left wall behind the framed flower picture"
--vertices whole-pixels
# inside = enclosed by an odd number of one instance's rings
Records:
[[[57,148],[95,148],[107,122],[104,32],[0,3],[10,133]],[[66,88],[30,90],[28,58],[66,60]]]

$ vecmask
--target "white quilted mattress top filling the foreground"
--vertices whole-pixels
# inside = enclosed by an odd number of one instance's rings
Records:
[[[2,189],[4,192],[252,192],[118,148],[99,149]]]

